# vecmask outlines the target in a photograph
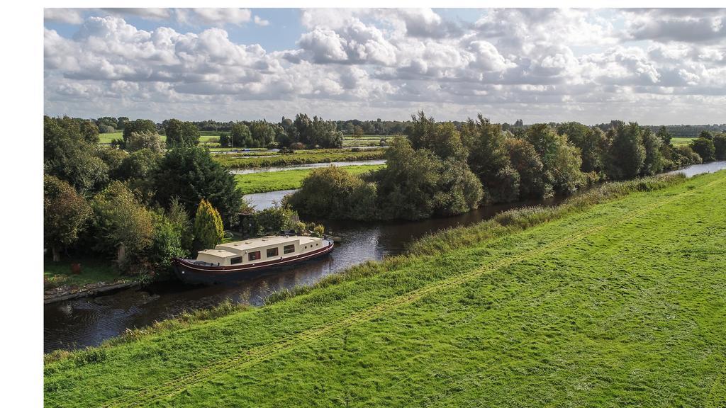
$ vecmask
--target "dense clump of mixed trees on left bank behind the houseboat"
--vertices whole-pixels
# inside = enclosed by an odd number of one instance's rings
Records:
[[[44,243],[114,259],[128,273],[221,242],[249,211],[234,176],[195,146],[195,126],[170,123],[166,151],[152,123],[126,122],[126,150],[99,147],[83,122],[44,116]],[[128,132],[127,132],[128,131]],[[97,137],[97,134],[96,134]],[[171,142],[170,142],[171,139]]]

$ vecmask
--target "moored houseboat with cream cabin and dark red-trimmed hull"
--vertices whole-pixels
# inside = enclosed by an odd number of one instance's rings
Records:
[[[219,283],[325,256],[333,250],[328,237],[269,236],[219,244],[200,250],[196,259],[174,259],[176,276],[186,283]]]

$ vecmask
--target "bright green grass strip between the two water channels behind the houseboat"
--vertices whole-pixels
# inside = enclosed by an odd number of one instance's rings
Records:
[[[385,165],[372,166],[343,166],[343,170],[351,174],[362,174],[366,171],[374,171]],[[252,194],[255,192],[269,192],[281,189],[298,189],[304,178],[310,174],[313,169],[286,170],[286,171],[269,171],[267,173],[254,174],[237,174],[234,179],[237,186],[242,189],[244,194]]]

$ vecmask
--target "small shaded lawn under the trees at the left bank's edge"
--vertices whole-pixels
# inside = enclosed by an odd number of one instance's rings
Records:
[[[79,259],[81,274],[70,271],[72,259],[62,259],[59,262],[48,258],[43,263],[43,280],[46,289],[58,286],[81,286],[87,283],[116,282],[123,280],[118,271],[113,269],[111,263],[105,259]]]

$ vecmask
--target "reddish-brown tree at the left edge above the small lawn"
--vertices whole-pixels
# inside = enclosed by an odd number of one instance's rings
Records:
[[[91,207],[76,189],[55,176],[43,176],[43,238],[60,261],[60,251],[73,245],[86,227]]]

